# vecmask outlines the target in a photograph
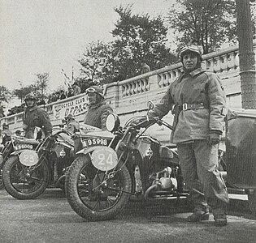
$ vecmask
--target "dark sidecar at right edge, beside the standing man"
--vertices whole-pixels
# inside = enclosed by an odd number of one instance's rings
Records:
[[[256,214],[256,110],[232,111],[226,121],[227,185],[248,194]]]

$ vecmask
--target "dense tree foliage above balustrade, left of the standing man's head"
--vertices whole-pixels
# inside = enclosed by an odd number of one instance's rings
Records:
[[[132,15],[131,6],[114,10],[120,17],[111,32],[115,40],[107,44],[99,40],[89,43],[78,59],[82,68],[76,81],[86,87],[92,80],[92,84],[102,85],[139,75],[142,60],[151,70],[157,56],[163,66],[176,61],[166,47],[167,28],[160,16],[150,19],[149,15]]]

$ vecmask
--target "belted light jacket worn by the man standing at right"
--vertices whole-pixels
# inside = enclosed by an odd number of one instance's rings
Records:
[[[196,104],[200,109],[183,110],[183,104]],[[222,134],[226,96],[218,75],[201,68],[181,74],[149,115],[163,117],[174,105],[179,112],[172,143],[207,139],[210,132]]]

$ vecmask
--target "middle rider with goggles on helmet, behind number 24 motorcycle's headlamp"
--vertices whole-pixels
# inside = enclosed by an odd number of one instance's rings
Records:
[[[86,89],[88,95],[89,109],[85,113],[84,123],[106,130],[106,117],[113,112],[110,105],[106,104],[101,87],[91,86]]]

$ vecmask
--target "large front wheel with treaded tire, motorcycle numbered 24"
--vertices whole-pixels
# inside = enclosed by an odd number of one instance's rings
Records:
[[[105,172],[99,172],[91,164],[89,156],[80,156],[73,161],[68,170],[65,188],[67,201],[82,218],[90,221],[111,220],[128,203],[132,181],[128,168],[122,167],[113,178],[106,180]],[[115,190],[111,190],[115,187]],[[93,192],[98,188],[98,193]],[[124,190],[124,191],[122,191]]]

